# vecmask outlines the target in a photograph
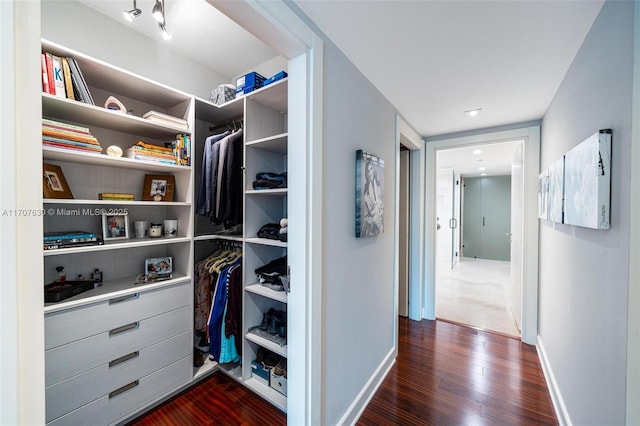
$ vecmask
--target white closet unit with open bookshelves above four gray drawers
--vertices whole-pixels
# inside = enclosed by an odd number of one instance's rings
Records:
[[[75,58],[96,103],[43,93],[43,118],[90,129],[103,152],[111,145],[126,151],[138,141],[164,147],[179,134],[190,135],[189,128],[142,115],[154,110],[192,123],[191,95],[51,42],[43,41],[42,51]],[[109,96],[131,113],[104,108]],[[81,230],[101,237],[105,213],[125,216],[129,228],[128,238],[102,245],[43,251],[45,284],[58,278],[58,266],[67,280],[103,272],[101,286],[44,307],[46,421],[116,423],[192,380],[192,168],[44,145],[42,157],[61,168],[73,194],[43,198],[45,233]],[[173,200],[144,201],[145,175],[173,177]],[[130,193],[134,200],[99,199],[104,192]],[[177,219],[176,236],[135,238],[135,221],[166,219]],[[135,284],[146,259],[167,256],[171,279]]]

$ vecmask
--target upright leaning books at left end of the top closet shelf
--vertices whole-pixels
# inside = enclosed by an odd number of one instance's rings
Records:
[[[95,105],[89,86],[74,58],[42,52],[41,62],[43,92]]]

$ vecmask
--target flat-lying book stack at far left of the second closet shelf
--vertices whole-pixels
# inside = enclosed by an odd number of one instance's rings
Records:
[[[101,153],[102,147],[89,128],[42,119],[42,144],[56,148]]]

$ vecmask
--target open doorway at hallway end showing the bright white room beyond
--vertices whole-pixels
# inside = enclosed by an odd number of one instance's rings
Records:
[[[520,337],[523,141],[436,153],[435,314]]]

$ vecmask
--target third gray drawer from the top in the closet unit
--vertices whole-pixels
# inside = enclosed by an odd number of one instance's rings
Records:
[[[191,333],[163,340],[45,389],[47,422],[189,356]]]

